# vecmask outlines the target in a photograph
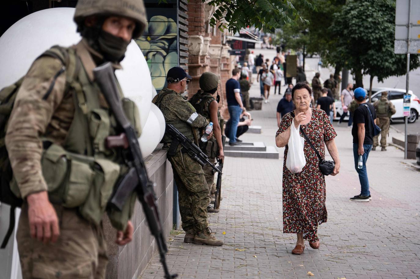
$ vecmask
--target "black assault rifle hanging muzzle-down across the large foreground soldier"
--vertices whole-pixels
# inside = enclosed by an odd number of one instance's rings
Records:
[[[118,184],[118,188],[116,189],[110,204],[121,210],[127,197],[133,191],[136,191],[137,198],[142,204],[144,215],[146,215],[150,232],[156,239],[160,254],[160,262],[162,263],[163,271],[165,272],[165,279],[176,278],[177,274],[170,274],[168,266],[166,265],[165,254],[168,252],[168,248],[166,247],[165,239],[163,238],[162,226],[157,210],[156,194],[153,190],[155,183],[150,181],[147,176],[146,166],[144,165],[136,132],[124,114],[121,100],[118,95],[114,69],[111,66],[111,63],[108,62],[95,68],[93,74],[117,120],[119,129],[121,130],[120,132],[125,134],[125,136],[117,136],[116,142],[121,142],[121,148],[126,151],[126,163],[130,167],[128,174]],[[113,142],[112,138],[111,140],[108,139],[108,144],[110,142]]]

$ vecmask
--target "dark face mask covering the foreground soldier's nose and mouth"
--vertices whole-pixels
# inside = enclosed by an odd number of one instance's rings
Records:
[[[126,40],[116,37],[102,29],[100,30],[98,45],[101,53],[107,61],[122,61],[129,43],[130,41],[127,42]]]

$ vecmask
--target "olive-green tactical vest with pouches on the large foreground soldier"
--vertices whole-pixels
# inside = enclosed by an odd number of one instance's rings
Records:
[[[105,138],[116,135],[115,118],[99,86],[89,79],[83,67],[85,61],[82,56],[92,59],[87,50],[78,49],[76,45],[62,48],[61,51],[68,72],[75,73],[74,77],[66,79],[66,90],[73,96],[75,111],[62,146],[55,144],[54,138],[42,138],[42,174],[48,186],[49,199],[64,207],[77,207],[86,220],[97,225],[107,210],[112,225],[117,230],[124,230],[131,218],[136,194],[132,193],[121,212],[107,208],[115,183],[128,170],[121,153],[105,146]],[[119,86],[118,89],[127,118],[138,128],[136,105],[122,98]],[[17,197],[20,196],[14,179],[11,181],[11,190]]]

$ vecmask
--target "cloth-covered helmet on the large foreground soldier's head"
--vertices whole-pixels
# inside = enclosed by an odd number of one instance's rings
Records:
[[[88,16],[124,16],[136,21],[133,38],[140,37],[146,26],[146,11],[143,0],[79,0],[74,21],[81,24]]]

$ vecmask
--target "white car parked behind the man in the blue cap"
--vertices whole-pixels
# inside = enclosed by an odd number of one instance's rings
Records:
[[[369,91],[369,90],[367,90]],[[397,89],[397,88],[385,88],[385,87],[378,87],[372,89],[372,103],[379,100],[381,98],[382,92],[388,91],[388,100],[394,104],[396,113],[392,115],[391,120],[397,119],[404,119],[403,112],[402,112],[402,101],[405,94],[405,89]],[[409,123],[416,122],[417,118],[420,114],[420,99],[416,95],[413,94],[413,91],[408,90],[408,93],[411,95],[411,102],[410,102],[410,116],[408,117]],[[341,101],[336,101],[336,112],[337,116],[334,120],[339,120],[341,114],[343,114],[343,108],[341,107]],[[348,120],[349,117],[345,117],[345,120]]]

